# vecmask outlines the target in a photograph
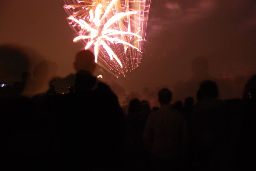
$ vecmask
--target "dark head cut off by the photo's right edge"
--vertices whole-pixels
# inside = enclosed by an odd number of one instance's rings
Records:
[[[256,98],[256,75],[253,75],[244,87],[244,99]]]

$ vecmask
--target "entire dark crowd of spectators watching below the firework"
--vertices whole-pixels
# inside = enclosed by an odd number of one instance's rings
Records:
[[[12,59],[7,57],[20,60],[22,67],[8,68]],[[255,168],[256,75],[246,84],[245,78],[236,78],[233,86],[230,80],[212,78],[207,60],[198,57],[193,78],[174,85],[175,98],[183,94],[183,105],[172,102],[167,87],[152,92],[145,87],[139,97],[126,95],[115,81],[100,81],[93,76],[96,64],[89,50],[76,54],[76,74],[66,78],[55,77],[58,66],[51,61],[28,72],[19,48],[2,46],[0,59],[0,79],[15,80],[0,87],[1,167],[6,170]],[[204,65],[204,75],[195,63]],[[226,98],[218,85],[226,93],[242,95],[243,90],[243,97]],[[113,92],[127,96],[126,102],[120,104]]]

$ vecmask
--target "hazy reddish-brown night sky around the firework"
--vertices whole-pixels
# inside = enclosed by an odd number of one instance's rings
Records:
[[[57,75],[74,73],[74,57],[83,47],[73,43],[63,0],[1,0],[0,44],[36,51],[31,70],[42,59],[58,64]],[[203,56],[212,78],[256,73],[255,0],[152,0],[144,55],[139,68],[120,75],[126,91],[193,78],[191,63]],[[200,67],[200,66],[198,66]]]

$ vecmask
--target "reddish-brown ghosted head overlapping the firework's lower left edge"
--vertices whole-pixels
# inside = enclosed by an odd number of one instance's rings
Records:
[[[94,62],[94,55],[90,50],[81,50],[76,54],[76,61],[74,63],[75,70],[78,72],[80,70],[85,70],[93,73],[96,68],[96,63]]]

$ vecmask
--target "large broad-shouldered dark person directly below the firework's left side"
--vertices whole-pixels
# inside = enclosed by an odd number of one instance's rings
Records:
[[[76,74],[75,99],[63,106],[64,166],[120,170],[124,135],[122,109],[110,88],[92,75],[96,65],[92,52],[83,50],[78,54],[92,60],[86,64],[88,71]]]

